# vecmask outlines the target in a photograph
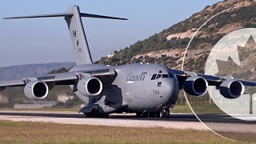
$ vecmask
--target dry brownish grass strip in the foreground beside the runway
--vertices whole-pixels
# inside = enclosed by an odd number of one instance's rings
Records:
[[[233,133],[234,134],[234,133]],[[242,134],[236,134],[243,137]],[[0,121],[0,143],[230,143],[210,131]],[[233,142],[235,143],[235,142]]]

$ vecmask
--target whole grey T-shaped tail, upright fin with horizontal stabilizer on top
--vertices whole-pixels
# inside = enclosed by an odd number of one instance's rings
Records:
[[[64,17],[68,28],[70,30],[70,38],[75,53],[77,65],[92,64],[92,58],[90,55],[89,45],[86,39],[85,30],[82,25],[82,17],[87,18],[106,18],[106,19],[118,19],[127,20],[126,18],[114,18],[96,14],[84,14],[81,13],[78,6],[72,6],[66,13],[62,14],[43,14],[43,15],[32,15],[23,17],[13,17],[4,19],[14,18],[50,18],[50,17]]]

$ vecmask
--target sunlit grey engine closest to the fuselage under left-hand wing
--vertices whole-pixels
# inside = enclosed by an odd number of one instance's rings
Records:
[[[78,82],[78,92],[86,97],[97,96],[102,89],[102,82],[96,77],[84,77]]]

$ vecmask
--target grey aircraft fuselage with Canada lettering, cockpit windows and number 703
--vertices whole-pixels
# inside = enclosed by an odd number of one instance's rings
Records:
[[[90,64],[75,66],[70,71],[106,67],[110,66]],[[101,113],[157,111],[162,106],[173,106],[178,99],[178,79],[166,66],[130,64],[113,68],[117,76],[103,88],[102,94],[85,97],[78,91],[74,93],[87,106],[101,106]]]

